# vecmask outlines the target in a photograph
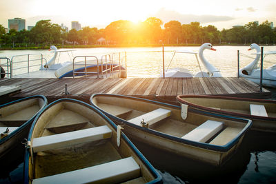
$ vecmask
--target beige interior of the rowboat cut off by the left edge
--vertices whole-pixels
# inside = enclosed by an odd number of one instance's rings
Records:
[[[0,132],[5,132],[9,128],[8,134],[26,123],[29,119],[37,114],[43,107],[44,101],[40,98],[28,99],[11,103],[0,108]]]

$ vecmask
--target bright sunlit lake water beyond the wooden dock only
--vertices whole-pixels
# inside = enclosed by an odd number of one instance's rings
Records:
[[[248,65],[253,61],[255,50],[248,51],[249,46],[214,46],[217,51],[204,50],[204,57],[221,71],[223,76],[237,76],[237,50],[240,53],[246,54],[248,57],[240,56],[240,68]],[[192,50],[198,51],[199,47],[165,47],[165,68],[168,67],[172,59],[173,51],[175,50]],[[264,51],[276,50],[276,46],[265,46]],[[162,48],[87,48],[75,49],[74,56],[93,55],[101,59],[103,54],[112,52],[126,52],[128,77],[159,77],[163,71]],[[50,60],[53,56],[48,50],[8,50],[0,51],[0,57],[12,58],[19,54],[43,54],[43,57]],[[17,58],[19,59],[19,58]],[[275,55],[268,55],[264,59],[264,68],[276,63]],[[59,61],[70,61],[68,54],[61,54]],[[3,62],[3,61],[2,61]],[[200,71],[197,60],[194,54],[175,54],[170,68],[187,68],[190,72],[195,73]],[[37,68],[38,70],[38,68]],[[201,70],[206,71],[201,64]]]

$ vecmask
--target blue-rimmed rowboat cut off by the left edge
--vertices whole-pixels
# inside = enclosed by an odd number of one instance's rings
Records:
[[[0,105],[0,158],[27,138],[34,117],[47,105],[45,96],[30,96]],[[23,145],[22,145],[23,150]]]

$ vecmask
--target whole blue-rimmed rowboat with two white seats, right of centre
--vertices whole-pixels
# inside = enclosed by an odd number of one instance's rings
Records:
[[[131,96],[94,94],[90,103],[124,125],[130,140],[211,165],[230,159],[251,125],[246,119],[190,109],[182,112],[177,105]]]

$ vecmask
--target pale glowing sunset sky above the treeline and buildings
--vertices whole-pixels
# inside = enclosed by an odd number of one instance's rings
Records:
[[[202,26],[215,25],[219,30],[248,22],[272,21],[276,27],[275,0],[0,0],[0,24],[8,28],[8,19],[20,17],[34,26],[42,19],[81,27],[106,28],[113,21],[134,23],[156,17],[164,23],[198,21]]]

